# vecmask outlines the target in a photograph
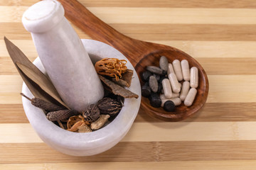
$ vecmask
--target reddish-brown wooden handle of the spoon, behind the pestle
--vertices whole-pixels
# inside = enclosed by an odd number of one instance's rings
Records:
[[[92,14],[77,0],[58,0],[65,8],[65,17],[75,26],[78,26],[92,39],[112,45],[132,62],[135,67],[137,62],[150,50],[152,44],[129,38],[107,25]]]

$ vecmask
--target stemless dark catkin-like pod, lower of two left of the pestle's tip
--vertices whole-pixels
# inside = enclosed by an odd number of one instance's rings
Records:
[[[60,111],[52,111],[47,113],[46,118],[50,121],[63,120],[70,118],[70,116],[78,115],[77,111],[73,110],[60,110]]]

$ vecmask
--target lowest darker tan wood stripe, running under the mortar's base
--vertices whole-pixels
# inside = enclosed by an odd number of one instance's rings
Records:
[[[0,144],[0,150],[0,164],[255,160],[256,141],[119,142],[92,157],[71,157],[44,143]]]

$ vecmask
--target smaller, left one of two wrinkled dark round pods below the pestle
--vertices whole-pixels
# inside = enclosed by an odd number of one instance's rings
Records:
[[[87,108],[87,111],[82,112],[82,116],[85,118],[85,120],[92,122],[100,117],[100,110],[97,105],[92,104]]]

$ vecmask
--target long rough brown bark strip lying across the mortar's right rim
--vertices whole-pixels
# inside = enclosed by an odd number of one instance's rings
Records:
[[[137,94],[132,93],[132,91],[129,91],[127,89],[124,89],[122,86],[119,86],[118,84],[115,84],[113,81],[110,81],[109,79],[102,77],[99,75],[101,81],[110,88],[113,94],[122,96],[124,98],[139,98]]]

